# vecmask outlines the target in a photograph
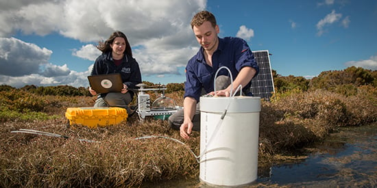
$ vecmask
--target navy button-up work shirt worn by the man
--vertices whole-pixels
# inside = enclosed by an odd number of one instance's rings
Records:
[[[213,92],[215,73],[221,66],[230,69],[233,79],[239,75],[241,68],[250,66],[256,70],[258,75],[259,67],[256,64],[254,54],[247,45],[247,42],[241,38],[219,38],[219,46],[212,55],[212,67],[206,64],[203,55],[203,47],[200,47],[196,55],[194,55],[186,66],[186,83],[184,85],[184,97],[190,96],[199,102],[202,88],[206,93]],[[228,70],[221,69],[217,76],[229,75]],[[245,95],[252,95],[249,91],[251,85],[247,83],[243,88]]]

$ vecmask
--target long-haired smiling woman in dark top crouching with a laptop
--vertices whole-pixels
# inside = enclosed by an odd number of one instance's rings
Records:
[[[97,57],[90,75],[106,75],[120,73],[123,81],[121,92],[99,94],[95,101],[95,107],[125,107],[132,102],[136,84],[141,83],[141,72],[132,57],[132,50],[127,37],[121,31],[115,31],[105,42],[99,42],[97,49],[102,54]],[[95,96],[97,92],[89,88],[90,94]],[[128,109],[128,108],[127,108]]]

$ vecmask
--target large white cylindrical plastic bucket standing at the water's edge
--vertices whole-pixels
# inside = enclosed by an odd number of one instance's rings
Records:
[[[219,186],[254,182],[258,173],[260,97],[201,97],[200,111],[199,179]]]

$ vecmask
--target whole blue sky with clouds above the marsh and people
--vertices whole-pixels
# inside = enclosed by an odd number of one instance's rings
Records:
[[[183,83],[199,50],[190,22],[201,10],[215,14],[220,38],[268,50],[279,75],[377,70],[375,0],[0,0],[0,85],[88,87],[95,46],[116,30],[143,81]]]

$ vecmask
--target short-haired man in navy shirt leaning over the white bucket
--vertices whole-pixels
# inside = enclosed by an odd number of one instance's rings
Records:
[[[191,28],[201,48],[186,66],[183,109],[169,117],[173,129],[179,129],[184,139],[189,139],[192,131],[200,131],[199,98],[202,94],[230,96],[242,85],[245,95],[249,92],[251,80],[259,68],[247,42],[241,38],[219,38],[219,26],[215,16],[202,11],[193,17]],[[229,72],[221,69],[217,74],[216,93],[214,79],[217,70],[226,66],[232,72],[233,88]]]

